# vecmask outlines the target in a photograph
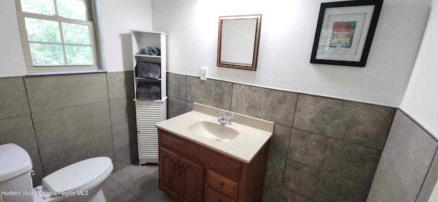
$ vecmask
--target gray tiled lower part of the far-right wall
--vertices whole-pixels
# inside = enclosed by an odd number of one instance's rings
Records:
[[[438,179],[437,147],[428,132],[397,111],[367,201],[428,201]]]

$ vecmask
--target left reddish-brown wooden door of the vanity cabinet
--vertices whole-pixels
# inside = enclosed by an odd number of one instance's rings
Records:
[[[159,189],[172,199],[179,195],[179,155],[159,147]]]

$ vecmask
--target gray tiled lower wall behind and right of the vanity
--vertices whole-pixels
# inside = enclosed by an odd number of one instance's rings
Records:
[[[395,109],[168,73],[168,118],[192,102],[274,121],[263,201],[365,201]]]

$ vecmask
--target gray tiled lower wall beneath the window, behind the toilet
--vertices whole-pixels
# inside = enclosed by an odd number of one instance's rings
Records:
[[[133,72],[0,79],[0,144],[31,156],[34,185],[79,160],[136,161]]]

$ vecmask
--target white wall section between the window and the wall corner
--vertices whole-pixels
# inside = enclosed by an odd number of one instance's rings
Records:
[[[151,0],[95,0],[101,66],[108,72],[133,70],[130,29],[152,30]]]

